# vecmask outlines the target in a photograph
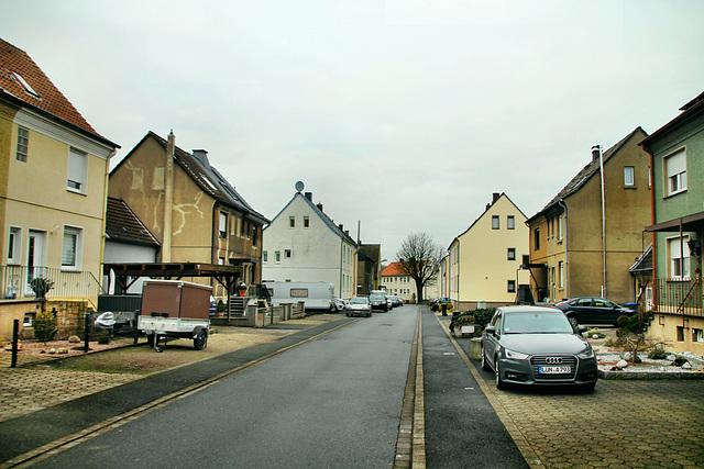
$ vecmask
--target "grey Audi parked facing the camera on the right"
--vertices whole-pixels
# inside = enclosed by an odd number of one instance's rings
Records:
[[[496,388],[506,384],[596,386],[596,356],[556,308],[505,306],[496,310],[482,335],[482,368],[494,371]]]

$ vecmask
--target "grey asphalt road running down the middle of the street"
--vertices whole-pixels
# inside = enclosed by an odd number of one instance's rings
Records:
[[[36,467],[389,467],[417,311],[361,319]]]

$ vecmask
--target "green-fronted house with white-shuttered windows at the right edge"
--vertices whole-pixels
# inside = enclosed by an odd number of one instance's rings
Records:
[[[704,355],[704,93],[640,142],[652,156],[652,320],[668,350]]]

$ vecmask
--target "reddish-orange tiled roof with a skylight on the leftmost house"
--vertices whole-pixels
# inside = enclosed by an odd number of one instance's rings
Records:
[[[22,49],[0,38],[0,96],[9,96],[106,141]],[[106,143],[110,143],[106,141]],[[112,146],[119,146],[112,144]]]

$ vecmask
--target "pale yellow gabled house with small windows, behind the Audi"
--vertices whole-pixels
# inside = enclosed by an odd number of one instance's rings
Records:
[[[455,310],[514,303],[528,283],[526,215],[505,193],[494,193],[482,215],[448,247],[449,295]]]

